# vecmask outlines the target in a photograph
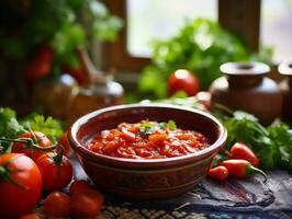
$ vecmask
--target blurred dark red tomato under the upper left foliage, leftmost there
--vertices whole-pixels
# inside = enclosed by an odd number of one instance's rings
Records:
[[[53,49],[48,45],[41,46],[40,50],[29,60],[25,76],[29,81],[36,81],[47,76],[52,68]]]

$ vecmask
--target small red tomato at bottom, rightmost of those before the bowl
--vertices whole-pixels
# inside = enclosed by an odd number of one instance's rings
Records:
[[[98,191],[83,189],[72,194],[71,214],[77,217],[94,217],[100,212],[104,198]]]

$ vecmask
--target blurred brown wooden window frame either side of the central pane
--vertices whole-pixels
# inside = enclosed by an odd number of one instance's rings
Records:
[[[127,51],[126,0],[106,0],[105,5],[123,19],[124,27],[114,43],[103,44],[102,69],[134,71],[150,62],[150,58],[135,57]],[[218,23],[232,33],[243,37],[250,51],[258,51],[260,32],[260,0],[218,0]]]

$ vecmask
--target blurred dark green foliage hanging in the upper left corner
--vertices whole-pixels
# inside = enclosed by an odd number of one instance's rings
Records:
[[[89,37],[114,41],[122,21],[97,0],[27,0],[0,3],[0,46],[4,58],[30,57],[42,44],[54,50],[55,64],[77,65],[75,49]]]

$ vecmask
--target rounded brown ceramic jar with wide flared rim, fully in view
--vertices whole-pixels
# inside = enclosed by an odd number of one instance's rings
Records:
[[[223,105],[232,111],[245,111],[263,125],[280,117],[282,94],[277,83],[267,77],[269,66],[261,62],[226,62],[224,74],[210,87],[212,107]]]

